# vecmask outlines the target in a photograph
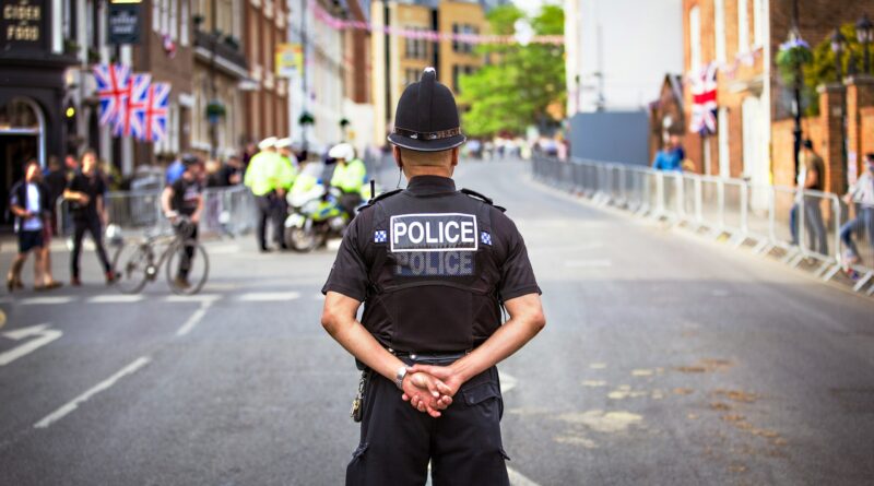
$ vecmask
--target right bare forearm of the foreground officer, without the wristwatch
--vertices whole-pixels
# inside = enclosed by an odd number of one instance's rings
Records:
[[[471,354],[449,366],[415,365],[411,370],[439,378],[456,394],[465,381],[519,351],[546,325],[539,294],[516,297],[504,305],[510,318]]]

